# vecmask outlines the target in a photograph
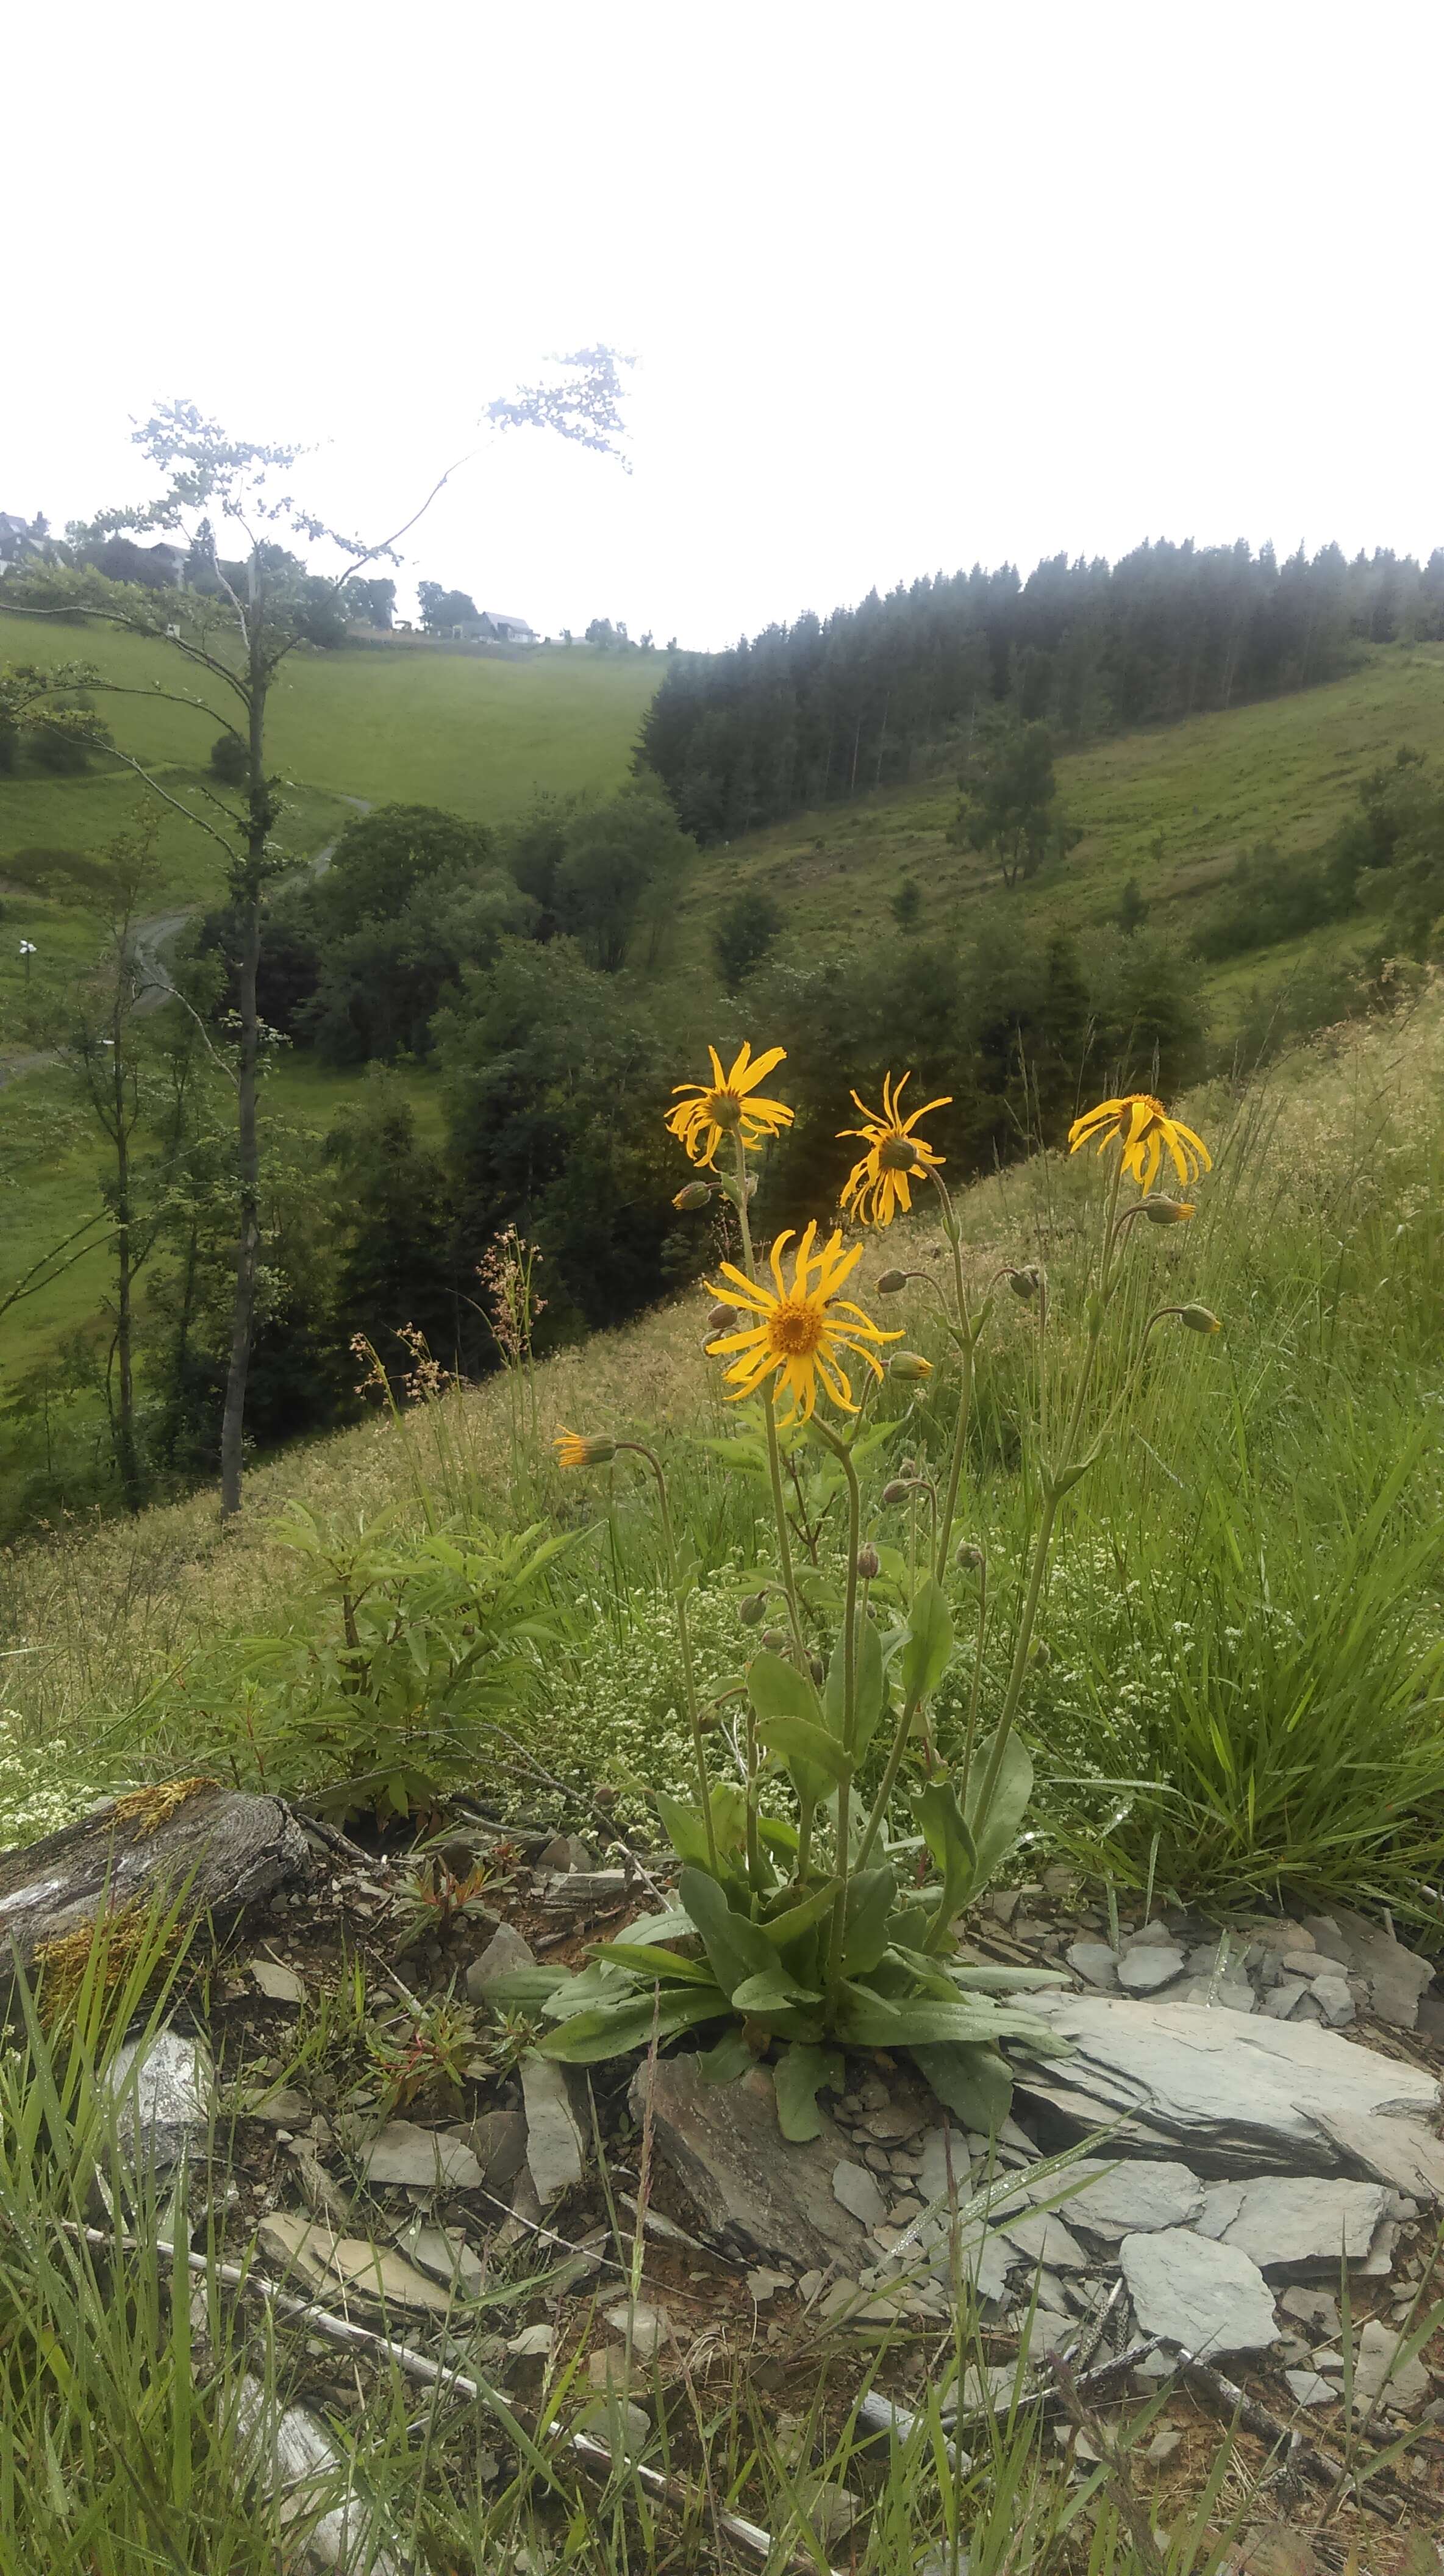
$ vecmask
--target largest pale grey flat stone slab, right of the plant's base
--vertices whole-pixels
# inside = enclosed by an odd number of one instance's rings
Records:
[[[1058,1991],[1030,2012],[1073,2053],[1030,2061],[1014,2043],[1019,2094],[1073,2133],[1109,2128],[1125,2154],[1205,2174],[1369,2172],[1362,2138],[1439,2107],[1434,2076],[1318,2022]]]

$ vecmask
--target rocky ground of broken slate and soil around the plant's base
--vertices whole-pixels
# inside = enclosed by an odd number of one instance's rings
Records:
[[[13,1860],[46,1888],[44,1844]],[[0,1901],[23,1911],[13,1878]],[[587,2087],[489,2009],[499,1968],[582,1960],[662,1878],[484,1819],[425,1870],[306,1826],[206,2017],[193,1991],[131,2069],[193,2244],[219,2218],[234,2257],[340,2321],[304,2372],[322,2439],[319,2416],[366,2403],[376,2331],[523,2414],[577,2360],[577,2429],[610,2442],[739,2357],[782,2439],[819,2370],[837,2409],[867,2375],[885,2434],[968,2295],[963,2450],[988,2409],[1037,2398],[1078,2473],[1127,2450],[1166,2532],[1241,2419],[1241,2568],[1444,2566],[1421,2555],[1444,2530],[1431,1960],[1354,1911],[1109,1922],[1048,1873],[965,1927],[978,1960],[1068,1976],[1032,1996],[1066,2048],[1017,2050],[1001,2136],[857,2053],[824,2136],[788,2146],[764,2066],[705,2087],[672,2056]],[[839,2550],[862,2509],[819,2499]]]

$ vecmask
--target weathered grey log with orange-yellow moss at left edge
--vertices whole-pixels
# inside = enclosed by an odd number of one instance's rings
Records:
[[[111,1798],[44,1842],[0,1852],[0,1984],[100,1914],[180,1901],[188,1922],[234,1917],[296,1878],[306,1857],[283,1798],[214,1780]]]

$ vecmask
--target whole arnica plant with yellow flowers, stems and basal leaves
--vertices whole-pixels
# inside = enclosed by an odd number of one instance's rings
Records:
[[[497,2002],[528,2004],[548,2022],[543,2050],[577,2063],[638,2045],[710,2030],[703,2058],[723,2081],[754,2058],[775,2058],[775,2092],[790,2138],[819,2133],[816,2094],[842,2089],[847,2048],[903,2050],[965,2128],[996,2130],[1012,2079],[999,2040],[1027,2035],[1048,2048],[1048,2030],[1022,2004],[1017,1986],[1035,1971],[978,1968],[958,1958],[958,1914],[978,1899],[1014,1850],[1032,1793],[1032,1762],[1017,1718],[1035,1638],[1048,1558],[1063,1497],[1081,1484],[1120,1435],[1143,1347],[1174,1319],[1192,1332],[1217,1332],[1205,1306],[1156,1306],[1127,1327],[1117,1301],[1138,1221],[1184,1224],[1192,1203],[1156,1190],[1163,1157],[1181,1182],[1210,1170],[1192,1128],[1169,1118],[1143,1092],[1104,1100],[1071,1128],[1071,1149],[1097,1144],[1112,1154],[1091,1262],[1081,1360],[1071,1391],[1050,1388],[1048,1275],[1040,1265],[1001,1267],[981,1296],[968,1291],[968,1265],[942,1157],[919,1133],[945,1100],[909,1118],[903,1082],[883,1084],[883,1110],[855,1097],[862,1128],[844,1128],[865,1151],[844,1188],[844,1208],[862,1224],[891,1226],[911,1190],[937,1193],[950,1247],[950,1280],[885,1270],[878,1293],[901,1296],[921,1280],[940,1301],[955,1376],[955,1422],[942,1479],[914,1466],[891,1476],[875,1510],[865,1507],[862,1473],[901,1425],[867,1425],[867,1404],[888,1376],[921,1386],[929,1363],[901,1345],[847,1298],[862,1244],[842,1231],[819,1242],[819,1226],[785,1231],[767,1265],[752,1242],[752,1159],[790,1123],[790,1108],[764,1100],[757,1084],[782,1061],[782,1048],[752,1059],[744,1046],[731,1072],[710,1051],[710,1082],[680,1084],[669,1131],[698,1167],[680,1206],[700,1208],[723,1195],[736,1211],[739,1260],[708,1280],[713,1298],[708,1352],[723,1365],[734,1404],[754,1427],[746,1463],[772,1497],[775,1556],[749,1577],[739,1605],[757,1651],[744,1674],[700,1705],[687,1631],[695,1569],[680,1561],[667,1473],[643,1440],[561,1432],[569,1468],[610,1466],[636,1455],[656,1489],[667,1582],[677,1615],[687,1718],[695,1747],[695,1803],[654,1793],[664,1832],[682,1862],[672,1911],[633,1924],[625,1940],[597,1942],[582,1973],[520,1968],[499,1981]],[[718,1170],[721,1157],[721,1170]],[[1133,1195],[1138,1193],[1138,1195]],[[983,1324],[1006,1288],[1037,1337],[1032,1370],[1032,1522],[1022,1551],[1017,1600],[1006,1605],[1012,1654],[996,1708],[983,1708],[988,1623],[988,1548],[981,1530],[958,1530],[968,1417]],[[1140,1314],[1135,1306],[1133,1314]],[[1130,1350],[1097,1368],[1109,1321]],[[819,1592],[813,1569],[798,1582],[793,1533],[782,1499],[780,1430],[831,1453],[847,1494],[847,1548],[834,1592]],[[927,1507],[927,1551],[911,1561],[873,1535],[878,1515],[898,1504]],[[968,1716],[955,1765],[940,1759],[929,1703],[955,1656],[958,1628],[970,1628]],[[826,1633],[831,1628],[831,1636]],[[721,1708],[739,1703],[736,1723]],[[731,1752],[731,1775],[713,1775],[708,1741]]]

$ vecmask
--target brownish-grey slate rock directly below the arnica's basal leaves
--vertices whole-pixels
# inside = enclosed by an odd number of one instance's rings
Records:
[[[703,2228],[746,2262],[867,2262],[867,2231],[831,2190],[847,2156],[842,2130],[819,2105],[821,2136],[795,2146],[777,2128],[777,2099],[764,2066],[734,2084],[705,2084],[695,2058],[638,2066],[631,2084],[633,2120],[651,2102],[654,2148],[687,2192]]]

